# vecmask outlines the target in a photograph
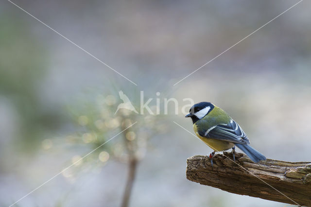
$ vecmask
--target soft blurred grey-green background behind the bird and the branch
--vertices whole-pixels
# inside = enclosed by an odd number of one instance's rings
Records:
[[[209,101],[267,158],[311,161],[310,1],[175,86],[297,1],[14,2],[138,86],[1,1],[0,206],[70,165],[16,206],[118,207],[128,192],[130,207],[284,206],[188,181],[186,159],[211,149],[173,121],[192,131],[183,99]],[[158,98],[160,115],[114,114],[119,90],[137,109],[141,90],[149,106]],[[165,98],[178,115],[164,115]]]

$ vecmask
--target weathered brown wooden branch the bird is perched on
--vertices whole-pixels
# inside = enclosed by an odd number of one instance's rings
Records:
[[[207,156],[195,155],[187,159],[187,179],[240,195],[311,207],[311,162],[267,159],[254,163],[242,153],[235,157],[248,172],[228,152],[214,156],[213,169]]]

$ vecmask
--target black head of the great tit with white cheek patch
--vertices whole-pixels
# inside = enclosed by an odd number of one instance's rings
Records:
[[[205,117],[214,107],[214,104],[210,102],[200,102],[198,104],[194,104],[190,108],[189,114],[187,114],[185,117],[191,117],[192,122],[195,123],[196,121]]]

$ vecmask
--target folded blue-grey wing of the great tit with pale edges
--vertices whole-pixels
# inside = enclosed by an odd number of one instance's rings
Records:
[[[250,143],[242,128],[233,120],[227,124],[214,126],[205,132],[201,131],[200,135],[206,138],[220,139],[239,144]]]

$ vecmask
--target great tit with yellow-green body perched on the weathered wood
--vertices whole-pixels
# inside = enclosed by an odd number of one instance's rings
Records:
[[[239,124],[216,105],[209,102],[194,104],[186,117],[191,117],[193,130],[198,138],[214,150],[209,155],[212,166],[215,152],[232,148],[233,159],[235,159],[235,146],[254,162],[266,159],[264,155],[249,146],[250,142]]]

